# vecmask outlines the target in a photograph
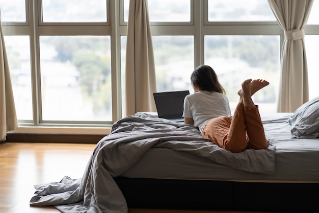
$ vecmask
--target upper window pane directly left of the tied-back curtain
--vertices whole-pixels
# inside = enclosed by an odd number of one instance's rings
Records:
[[[208,0],[208,21],[275,21],[265,0]]]

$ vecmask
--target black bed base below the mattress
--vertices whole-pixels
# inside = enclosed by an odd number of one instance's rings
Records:
[[[319,212],[319,183],[114,179],[129,208]]]

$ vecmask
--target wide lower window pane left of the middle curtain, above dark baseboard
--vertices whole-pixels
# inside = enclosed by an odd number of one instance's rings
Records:
[[[44,121],[112,121],[110,46],[110,36],[40,36]]]

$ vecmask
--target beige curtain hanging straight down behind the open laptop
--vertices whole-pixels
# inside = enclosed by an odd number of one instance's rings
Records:
[[[155,111],[155,65],[147,0],[129,1],[125,71],[126,114]]]

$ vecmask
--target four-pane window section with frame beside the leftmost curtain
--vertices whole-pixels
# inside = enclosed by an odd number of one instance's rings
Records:
[[[20,125],[103,126],[118,119],[109,7],[107,0],[0,0]]]

